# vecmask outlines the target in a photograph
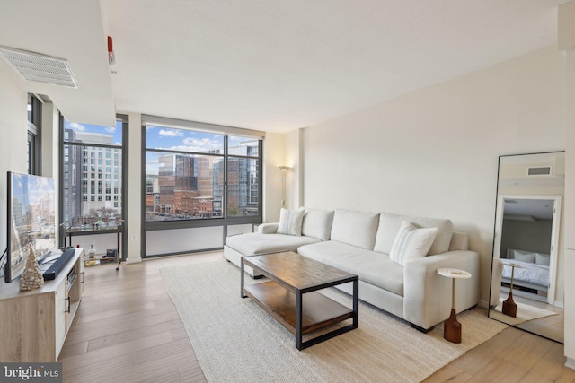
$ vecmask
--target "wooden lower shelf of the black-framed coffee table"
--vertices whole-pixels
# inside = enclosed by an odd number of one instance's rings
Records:
[[[354,320],[354,323],[349,326],[337,328],[329,333],[318,335],[303,342],[301,339],[302,335],[354,318],[353,310],[319,292],[305,292],[305,294],[300,292],[302,296],[300,315],[302,323],[298,334],[296,293],[288,291],[280,286],[279,283],[273,281],[243,286],[243,292],[257,302],[280,325],[286,327],[291,334],[296,336],[298,350],[303,350],[306,347],[357,328],[357,320]]]

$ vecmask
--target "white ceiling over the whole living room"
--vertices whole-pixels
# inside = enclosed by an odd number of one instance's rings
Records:
[[[564,2],[0,0],[0,45],[69,60],[78,90],[13,81],[74,122],[287,132],[552,45]]]

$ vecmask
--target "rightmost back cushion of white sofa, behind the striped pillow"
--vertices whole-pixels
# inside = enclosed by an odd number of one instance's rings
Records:
[[[429,248],[428,255],[445,253],[449,251],[449,243],[453,235],[453,223],[442,218],[410,217],[394,213],[381,213],[379,228],[377,229],[374,251],[389,254],[394,246],[394,240],[402,226],[403,221],[414,223],[421,228],[438,228],[438,233]]]

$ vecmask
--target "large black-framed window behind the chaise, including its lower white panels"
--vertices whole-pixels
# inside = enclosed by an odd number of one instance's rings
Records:
[[[221,248],[228,229],[261,222],[260,132],[145,120],[145,256]],[[179,233],[186,242],[184,232],[201,238],[181,246],[167,240]]]

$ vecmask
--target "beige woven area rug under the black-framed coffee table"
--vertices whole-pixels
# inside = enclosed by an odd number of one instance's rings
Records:
[[[457,316],[463,341],[452,344],[443,339],[443,325],[422,334],[360,303],[357,329],[300,352],[288,330],[240,298],[235,265],[217,261],[161,272],[208,382],[419,382],[507,327],[482,309],[464,311]],[[351,307],[349,295],[323,292]]]

